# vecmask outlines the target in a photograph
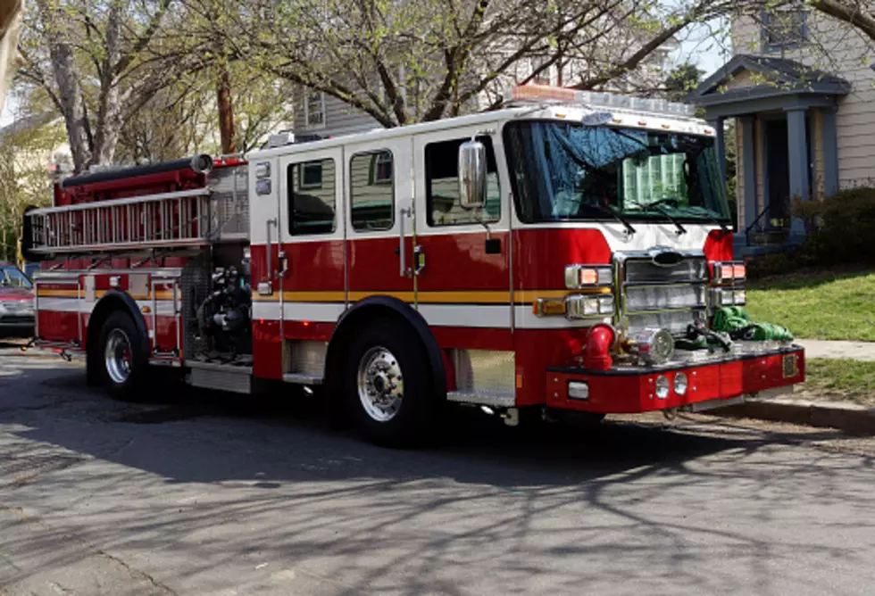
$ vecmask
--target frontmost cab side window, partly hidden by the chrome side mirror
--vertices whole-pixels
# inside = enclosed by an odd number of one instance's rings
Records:
[[[478,137],[486,145],[487,196],[482,215],[459,205],[459,145],[469,138],[425,145],[425,188],[429,226],[476,224],[478,217],[494,222],[501,217],[501,189],[498,186],[496,154],[492,139]]]

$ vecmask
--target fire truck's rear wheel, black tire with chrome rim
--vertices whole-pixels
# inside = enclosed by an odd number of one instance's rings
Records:
[[[96,360],[104,386],[117,400],[137,401],[146,393],[143,381],[148,356],[140,349],[140,339],[134,321],[120,311],[113,312],[101,327]]]

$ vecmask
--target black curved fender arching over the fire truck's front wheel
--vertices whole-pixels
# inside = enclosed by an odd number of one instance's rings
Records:
[[[366,316],[366,310],[381,310],[391,312],[404,319],[419,335],[422,345],[429,355],[429,364],[435,372],[435,389],[441,397],[446,395],[446,368],[444,366],[444,352],[437,345],[435,336],[431,333],[429,324],[422,318],[419,311],[413,309],[410,304],[398,300],[394,296],[368,296],[364,300],[355,302],[352,308],[346,310],[340,319],[337,319],[337,327],[331,334],[329,352],[325,359],[326,367],[336,367],[335,360],[338,357],[338,347],[345,343],[347,335],[354,333],[354,322],[362,316]],[[326,379],[329,375],[326,370]]]

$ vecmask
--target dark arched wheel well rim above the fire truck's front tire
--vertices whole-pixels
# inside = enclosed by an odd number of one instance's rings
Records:
[[[341,370],[346,346],[355,332],[362,326],[374,319],[394,319],[412,328],[419,335],[423,347],[429,354],[431,369],[434,371],[434,380],[439,394],[446,394],[446,367],[443,351],[437,345],[435,336],[429,329],[429,324],[422,319],[422,315],[413,310],[405,302],[401,302],[390,296],[374,296],[357,302],[353,308],[346,311],[337,322],[337,327],[331,335],[328,354],[325,358],[325,383],[329,395],[337,395],[343,389],[339,383],[339,375],[329,375],[329,371]]]

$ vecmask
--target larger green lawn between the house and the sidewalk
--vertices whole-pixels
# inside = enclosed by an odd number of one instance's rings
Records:
[[[875,272],[821,271],[752,283],[747,311],[796,337],[875,342]]]

